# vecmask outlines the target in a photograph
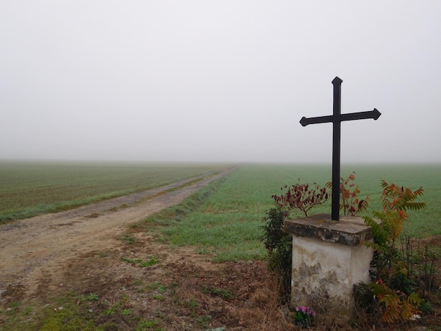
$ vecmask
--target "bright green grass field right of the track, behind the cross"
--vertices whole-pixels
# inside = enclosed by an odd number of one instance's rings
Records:
[[[356,172],[361,196],[371,195],[369,210],[380,210],[381,180],[411,189],[423,186],[425,194],[421,201],[428,206],[409,212],[404,233],[413,237],[441,234],[440,167],[351,165],[342,169],[342,175],[352,171]],[[197,246],[201,253],[214,254],[216,261],[261,258],[265,255],[259,240],[262,218],[273,207],[271,195],[280,194],[283,185],[293,184],[299,178],[302,182],[324,185],[328,177],[330,169],[323,165],[244,165],[183,204],[147,218],[146,222],[162,225],[164,239],[171,244]],[[330,201],[313,209],[313,213],[330,213]]]

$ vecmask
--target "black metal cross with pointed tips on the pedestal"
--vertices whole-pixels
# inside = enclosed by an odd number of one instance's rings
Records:
[[[335,77],[333,80],[333,115],[311,118],[302,117],[302,120],[300,120],[302,126],[317,123],[333,123],[333,193],[331,220],[340,220],[340,123],[342,123],[343,120],[364,120],[366,118],[376,120],[381,115],[376,108],[373,108],[373,111],[342,114],[342,82],[339,77]]]

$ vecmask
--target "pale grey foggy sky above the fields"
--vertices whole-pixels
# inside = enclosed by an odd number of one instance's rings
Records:
[[[0,0],[0,159],[441,162],[441,1]]]

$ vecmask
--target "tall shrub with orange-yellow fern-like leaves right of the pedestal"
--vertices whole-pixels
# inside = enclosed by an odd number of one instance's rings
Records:
[[[410,264],[406,266],[406,258],[403,259],[402,254],[399,254],[397,239],[408,217],[406,211],[421,209],[426,204],[415,202],[423,194],[421,187],[412,191],[385,181],[382,181],[381,186],[383,211],[373,211],[373,217],[364,217],[366,225],[372,229],[374,239],[373,242],[364,243],[374,249],[371,262],[373,283],[368,288],[378,311],[383,312],[383,320],[395,323],[413,318],[421,304],[421,299],[415,292],[418,283],[411,273]],[[407,254],[411,254],[411,251],[407,251]],[[362,292],[361,286],[366,285],[356,285],[354,288],[356,301],[366,301],[366,296],[357,296]]]

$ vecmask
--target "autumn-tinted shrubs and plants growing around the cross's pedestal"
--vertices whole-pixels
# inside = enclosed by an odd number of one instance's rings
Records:
[[[421,323],[414,321],[421,318],[423,325],[428,325],[433,317],[437,319],[440,310],[440,258],[437,253],[441,238],[439,235],[435,237],[437,244],[433,245],[409,235],[402,236],[409,218],[408,211],[419,211],[427,206],[425,202],[415,201],[423,195],[423,187],[413,190],[382,180],[382,209],[369,212],[371,196],[360,196],[361,190],[354,180],[354,173],[340,180],[340,213],[350,216],[356,216],[361,211],[368,213],[363,218],[364,223],[371,227],[373,242],[363,244],[373,249],[374,257],[369,270],[371,282],[354,285],[357,316],[352,325],[371,330],[371,327],[381,327],[384,323],[385,327],[393,325],[407,330],[420,327]],[[325,186],[329,188],[331,183]],[[290,235],[282,230],[284,220],[295,209],[309,216],[311,208],[328,199],[326,187],[316,183],[284,187],[284,194],[273,195],[275,206],[267,211],[263,219],[268,268],[280,277],[280,297],[286,301],[291,290],[291,256],[296,253],[292,251]],[[435,310],[433,305],[437,306]],[[316,313],[309,307],[296,307],[294,312],[296,323],[305,327],[313,325],[315,317]],[[329,325],[332,319],[322,316],[321,321]],[[438,322],[435,325],[439,325]]]

